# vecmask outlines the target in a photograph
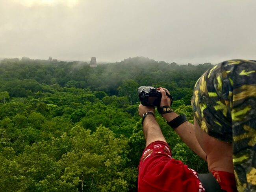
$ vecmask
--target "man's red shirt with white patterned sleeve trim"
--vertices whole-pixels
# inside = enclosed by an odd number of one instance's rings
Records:
[[[143,151],[138,168],[139,192],[205,191],[198,179],[197,172],[188,168],[182,161],[173,159],[171,149],[165,142],[155,141],[150,143]],[[227,192],[236,191],[232,187],[230,188],[230,185],[234,185],[236,188],[234,174],[229,175],[226,172],[223,174],[219,171],[214,173],[213,176],[215,178],[217,176],[221,180],[220,185],[221,187],[224,186],[224,190]],[[227,175],[228,177],[226,177]]]

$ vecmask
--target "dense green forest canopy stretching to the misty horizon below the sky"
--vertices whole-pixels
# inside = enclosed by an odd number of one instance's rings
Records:
[[[138,87],[167,88],[174,111],[193,122],[193,86],[212,66],[145,57],[94,68],[26,57],[0,61],[0,192],[137,191],[145,148]],[[207,172],[206,162],[156,118],[173,157]]]

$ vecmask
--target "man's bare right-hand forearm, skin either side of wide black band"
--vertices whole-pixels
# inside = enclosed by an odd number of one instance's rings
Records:
[[[170,122],[174,118],[176,118],[178,114],[176,113],[165,113],[163,114],[163,117],[167,122]],[[194,130],[194,125],[185,122],[181,124],[180,126],[176,127],[174,131],[180,136],[180,138],[186,143],[191,150],[193,150],[199,157],[202,159],[206,160],[206,156],[202,148],[200,147],[197,138],[195,137],[195,130]]]

